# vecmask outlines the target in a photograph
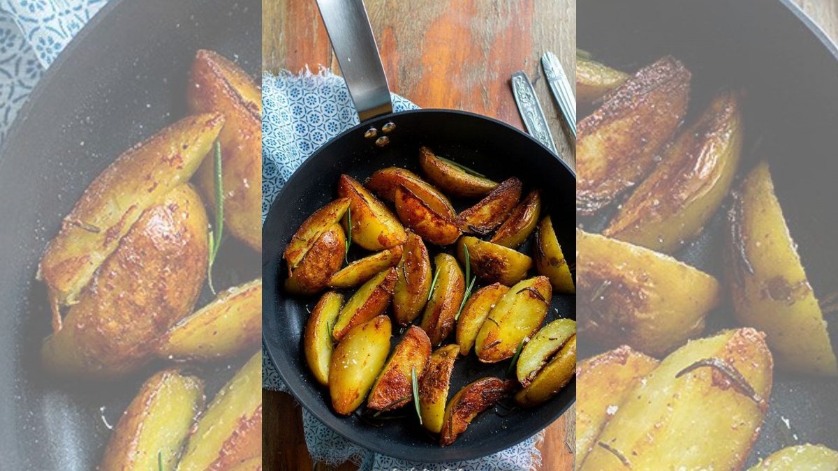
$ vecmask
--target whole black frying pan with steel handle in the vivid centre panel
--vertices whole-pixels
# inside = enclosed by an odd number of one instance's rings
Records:
[[[478,458],[509,448],[556,420],[575,400],[576,383],[571,382],[551,401],[531,410],[515,411],[505,417],[486,411],[446,448],[440,448],[437,439],[424,432],[412,406],[404,409],[405,419],[386,421],[382,427],[372,427],[356,415],[339,416],[331,409],[328,391],[308,372],[303,357],[303,328],[317,298],[292,298],[282,291],[287,273],[282,251],[303,220],[336,197],[341,173],[360,181],[375,170],[394,165],[418,173],[418,151],[427,145],[491,179],[499,181],[515,175],[528,189],[542,189],[542,199],[552,215],[562,248],[566,254],[572,254],[576,246],[571,222],[575,218],[575,175],[535,139],[489,117],[427,109],[391,113],[390,94],[363,4],[360,0],[319,3],[361,123],[334,137],[308,158],[285,184],[266,218],[262,237],[262,332],[268,353],[297,401],[339,435],[364,448],[421,462]],[[396,129],[388,134],[388,145],[378,147],[374,140],[364,137],[370,127],[380,130],[386,122],[396,124]],[[468,204],[456,200],[453,203],[458,210]],[[429,246],[429,250],[438,252],[439,248]],[[524,250],[530,251],[529,247]],[[445,251],[452,253],[450,248]],[[575,307],[575,297],[555,296],[548,320],[575,318]],[[393,343],[398,339],[396,332]],[[508,365],[509,361],[484,365],[474,355],[457,360],[451,394],[482,376],[504,377]]]

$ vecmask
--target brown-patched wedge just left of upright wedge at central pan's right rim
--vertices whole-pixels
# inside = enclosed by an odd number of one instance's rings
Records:
[[[532,259],[520,251],[481,241],[471,235],[463,235],[457,243],[457,258],[463,265],[466,263],[466,250],[471,271],[487,283],[514,285],[523,280],[532,267]]]

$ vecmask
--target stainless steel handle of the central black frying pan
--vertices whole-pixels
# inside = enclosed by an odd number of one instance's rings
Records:
[[[317,0],[317,4],[360,120],[391,113],[390,87],[363,0]]]

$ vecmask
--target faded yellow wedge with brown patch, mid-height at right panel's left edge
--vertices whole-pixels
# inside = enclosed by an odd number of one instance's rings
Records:
[[[716,278],[670,256],[577,230],[577,319],[588,339],[664,355],[704,331]]]

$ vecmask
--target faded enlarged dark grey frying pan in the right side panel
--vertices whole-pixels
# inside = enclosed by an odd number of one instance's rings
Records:
[[[786,0],[589,0],[579,5],[579,47],[597,60],[637,70],[665,54],[693,72],[692,116],[722,86],[741,88],[745,141],[738,179],[768,159],[778,198],[815,293],[835,290],[835,128],[838,50]],[[735,183],[736,184],[736,183]],[[722,210],[676,258],[722,272]],[[612,215],[580,220],[599,231]],[[838,319],[831,325],[838,326]],[[711,313],[708,334],[734,327],[728,302]],[[833,345],[838,341],[831,329]],[[584,334],[580,350],[599,350]],[[748,465],[795,443],[838,448],[838,380],[774,371],[768,417]],[[787,425],[788,423],[788,425]]]

